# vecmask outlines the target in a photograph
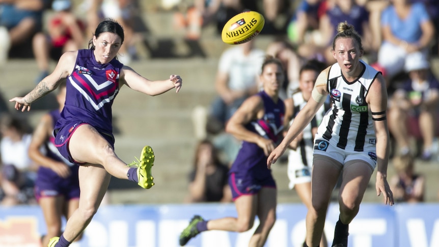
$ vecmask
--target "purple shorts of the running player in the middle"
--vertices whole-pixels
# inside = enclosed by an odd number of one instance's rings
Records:
[[[259,193],[262,187],[276,188],[276,181],[271,174],[263,179],[257,179],[250,173],[231,173],[229,185],[232,189],[233,201],[240,196],[251,196]]]

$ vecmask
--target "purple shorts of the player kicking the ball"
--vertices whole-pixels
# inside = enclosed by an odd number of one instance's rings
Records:
[[[88,123],[72,122],[54,131],[55,146],[58,148],[58,151],[60,151],[61,155],[63,155],[64,158],[75,164],[84,164],[84,162],[77,162],[72,158],[72,155],[70,155],[69,152],[69,141],[75,130],[83,124]],[[107,142],[114,148],[114,136],[111,134],[104,134],[102,132],[100,133],[102,137],[105,138],[105,140],[107,140]]]

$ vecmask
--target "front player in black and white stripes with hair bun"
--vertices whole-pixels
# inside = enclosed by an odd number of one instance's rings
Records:
[[[360,60],[364,50],[361,37],[353,26],[341,22],[337,30],[332,49],[337,63],[319,74],[311,99],[267,159],[270,168],[311,122],[329,94],[332,110],[324,116],[314,142],[312,204],[306,219],[307,244],[312,247],[320,242],[332,190],[342,171],[340,217],[332,246],[347,246],[349,223],[360,209],[375,167],[377,196],[382,193],[386,204],[394,204],[387,182],[386,83],[380,72]]]

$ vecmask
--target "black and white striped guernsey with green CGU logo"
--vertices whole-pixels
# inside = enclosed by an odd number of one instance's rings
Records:
[[[316,135],[316,139],[324,139],[341,149],[358,152],[375,149],[375,130],[366,96],[380,73],[360,62],[364,70],[358,79],[350,83],[342,75],[338,63],[331,66],[327,90],[333,106],[323,117]]]

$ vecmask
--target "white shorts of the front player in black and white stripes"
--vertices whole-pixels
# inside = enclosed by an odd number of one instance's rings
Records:
[[[326,140],[316,140],[314,143],[314,154],[330,157],[340,162],[342,166],[353,160],[362,160],[369,164],[372,171],[375,170],[376,150],[365,150],[363,152],[347,151]]]

